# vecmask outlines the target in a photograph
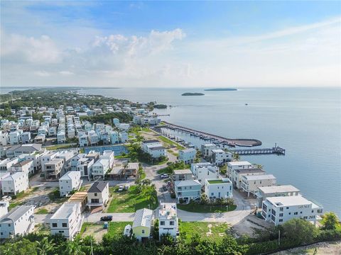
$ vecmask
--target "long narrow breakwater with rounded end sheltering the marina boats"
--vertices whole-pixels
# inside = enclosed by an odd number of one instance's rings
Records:
[[[215,142],[215,143],[227,144],[227,145],[229,145],[231,147],[235,147],[235,146],[254,147],[254,146],[261,145],[261,141],[256,140],[256,139],[226,138],[226,137],[222,137],[220,135],[212,135],[212,134],[207,133],[207,132],[193,130],[192,128],[185,128],[183,126],[175,125],[175,124],[172,124],[172,123],[168,123],[166,121],[163,121],[163,123],[165,123],[166,125],[156,127],[155,129],[158,129],[158,128],[169,128],[171,130],[177,130],[177,131],[180,131],[180,132],[188,133],[190,135],[194,135],[196,137],[200,137],[203,140],[212,140],[212,142]]]

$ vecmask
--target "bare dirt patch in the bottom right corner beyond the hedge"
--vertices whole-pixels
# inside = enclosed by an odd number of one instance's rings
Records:
[[[338,242],[321,242],[311,244],[305,247],[289,249],[286,251],[278,251],[273,255],[340,255],[341,241]]]

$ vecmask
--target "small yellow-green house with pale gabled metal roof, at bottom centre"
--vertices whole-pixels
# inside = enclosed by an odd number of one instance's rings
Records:
[[[133,222],[133,234],[140,242],[151,237],[151,224],[153,220],[153,210],[146,208],[136,210]]]

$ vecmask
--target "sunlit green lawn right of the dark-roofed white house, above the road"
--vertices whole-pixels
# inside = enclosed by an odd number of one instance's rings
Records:
[[[109,188],[112,194],[112,201],[110,202],[107,212],[135,212],[141,208],[148,208],[151,205],[151,209],[158,207],[158,198],[156,192],[153,193],[156,203],[152,203],[147,193],[153,191],[151,186],[144,186],[144,191],[138,193],[137,186],[131,186],[129,191],[117,192],[118,186]]]

